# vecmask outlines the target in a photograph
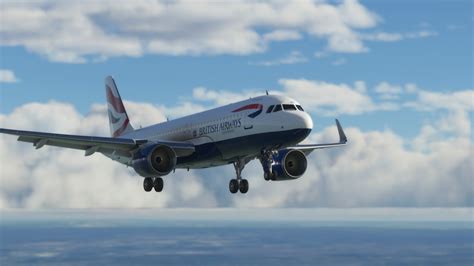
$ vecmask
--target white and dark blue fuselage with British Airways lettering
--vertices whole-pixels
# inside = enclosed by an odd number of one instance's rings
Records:
[[[281,110],[267,112],[272,105],[279,105]],[[298,102],[267,95],[137,129],[121,137],[188,141],[196,146],[196,153],[179,160],[177,167],[204,168],[227,164],[235,158],[255,157],[263,148],[297,144],[312,128],[311,117]],[[126,163],[120,158],[112,159]]]

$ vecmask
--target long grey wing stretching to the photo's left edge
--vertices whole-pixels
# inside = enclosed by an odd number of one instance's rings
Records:
[[[0,128],[0,133],[16,135],[18,141],[33,143],[36,149],[45,145],[84,150],[85,156],[100,152],[130,157],[141,145],[148,143],[146,139],[107,138],[94,136],[66,135],[36,131],[24,131]],[[194,152],[194,145],[187,142],[159,142],[175,150],[176,155],[186,156]]]

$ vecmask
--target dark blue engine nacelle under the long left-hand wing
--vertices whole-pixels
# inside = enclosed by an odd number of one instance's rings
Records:
[[[134,156],[132,166],[143,177],[165,176],[176,166],[176,153],[162,144],[146,146]]]

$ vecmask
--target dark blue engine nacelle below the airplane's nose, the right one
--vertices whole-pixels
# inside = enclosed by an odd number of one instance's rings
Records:
[[[308,166],[306,155],[299,150],[281,150],[273,155],[272,180],[300,178]]]

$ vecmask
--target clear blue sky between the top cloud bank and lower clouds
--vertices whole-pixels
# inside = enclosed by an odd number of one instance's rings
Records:
[[[367,1],[361,5],[379,17],[376,26],[362,29],[362,33],[426,32],[429,36],[406,37],[393,42],[365,41],[367,52],[339,53],[325,52],[324,38],[314,38],[303,32],[299,40],[270,43],[266,51],[246,55],[119,55],[102,62],[80,64],[51,62],[44,55],[28,51],[24,45],[2,45],[1,68],[12,70],[20,81],[1,83],[1,112],[9,113],[27,102],[55,99],[73,103],[80,112],[86,113],[92,103],[103,102],[102,82],[108,74],[116,77],[127,100],[165,105],[176,105],[183,98],[190,98],[193,88],[198,86],[237,93],[243,90],[263,92],[280,89],[278,80],[282,78],[336,84],[361,80],[367,84],[369,94],[373,93],[373,87],[384,81],[396,85],[414,83],[437,92],[472,88],[471,1],[433,1],[429,4],[426,1]],[[298,52],[305,62],[273,66],[253,64],[275,61],[292,51]],[[315,56],[318,52],[325,54],[318,58]],[[367,129],[389,127],[412,137],[418,133],[418,127],[413,127],[413,123],[422,123],[429,114],[400,110],[348,118],[341,114],[340,117],[350,125]],[[411,122],[401,121],[406,119]],[[390,123],[386,123],[387,120]],[[327,118],[320,121],[323,125],[332,123]]]

